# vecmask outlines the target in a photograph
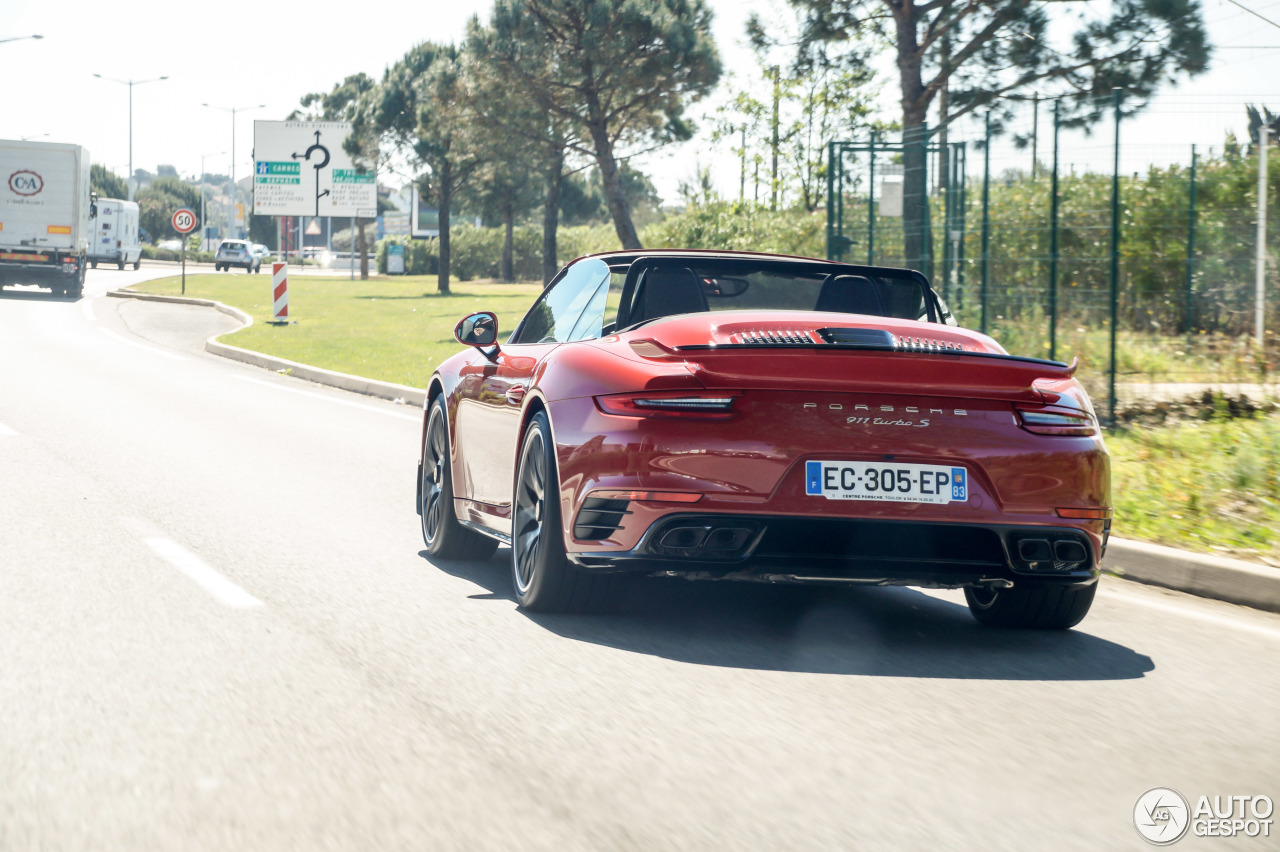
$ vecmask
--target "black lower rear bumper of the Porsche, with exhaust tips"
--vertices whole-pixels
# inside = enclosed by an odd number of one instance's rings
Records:
[[[1009,587],[1088,585],[1098,548],[1069,526],[673,513],[626,551],[570,553],[589,571],[695,580]]]

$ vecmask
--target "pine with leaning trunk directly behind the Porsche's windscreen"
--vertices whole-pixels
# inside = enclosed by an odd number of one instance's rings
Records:
[[[685,107],[719,79],[704,0],[498,0],[486,56],[511,88],[577,128],[618,239],[640,237],[618,148],[690,138]]]

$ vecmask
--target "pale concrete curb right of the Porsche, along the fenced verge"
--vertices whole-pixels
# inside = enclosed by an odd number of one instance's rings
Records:
[[[1149,586],[1280,613],[1280,568],[1270,565],[1112,537],[1102,569]]]

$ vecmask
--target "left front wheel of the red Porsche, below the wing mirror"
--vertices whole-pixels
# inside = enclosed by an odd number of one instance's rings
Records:
[[[458,523],[453,510],[453,469],[449,464],[449,421],[444,397],[431,400],[422,441],[419,514],[422,516],[422,541],[426,551],[439,559],[488,559],[498,549],[489,536]]]

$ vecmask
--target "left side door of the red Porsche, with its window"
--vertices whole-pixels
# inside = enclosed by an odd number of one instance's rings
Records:
[[[493,358],[479,356],[460,374],[457,414],[458,471],[467,496],[504,516],[511,507],[525,398],[539,365],[559,345],[599,334],[600,322],[584,322],[599,307],[603,316],[609,267],[600,260],[573,264],[539,296]]]

